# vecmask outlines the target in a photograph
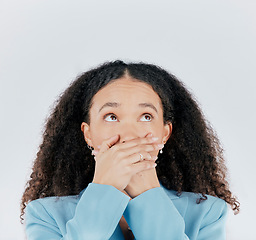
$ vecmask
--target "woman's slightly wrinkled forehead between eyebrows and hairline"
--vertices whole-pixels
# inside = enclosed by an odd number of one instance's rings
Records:
[[[123,77],[114,80],[100,89],[92,99],[92,105],[105,102],[136,104],[151,102],[161,107],[161,99],[151,85],[133,78]]]

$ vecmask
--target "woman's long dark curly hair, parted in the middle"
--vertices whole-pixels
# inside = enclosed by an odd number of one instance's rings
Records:
[[[157,176],[162,185],[178,194],[198,193],[198,203],[206,200],[207,194],[219,197],[235,213],[239,212],[239,202],[229,190],[217,135],[184,84],[152,64],[114,61],[80,75],[55,103],[22,196],[22,220],[30,201],[77,195],[92,182],[95,161],[84,140],[81,123],[90,122],[93,96],[109,82],[127,74],[152,86],[162,100],[164,122],[173,125],[171,137],[157,161]]]

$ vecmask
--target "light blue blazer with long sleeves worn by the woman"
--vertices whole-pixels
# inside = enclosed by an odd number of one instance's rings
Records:
[[[224,200],[175,191],[163,185],[134,199],[110,185],[90,183],[79,195],[47,197],[26,207],[28,240],[124,240],[124,215],[136,240],[224,240]]]

